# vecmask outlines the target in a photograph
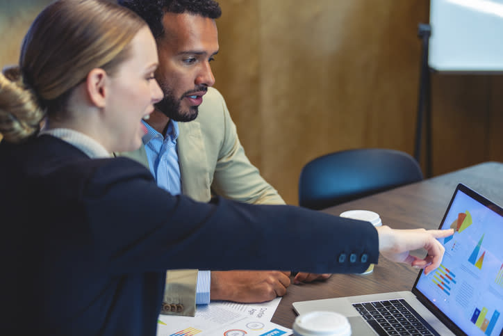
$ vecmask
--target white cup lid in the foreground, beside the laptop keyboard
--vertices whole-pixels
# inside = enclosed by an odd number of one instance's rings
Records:
[[[337,312],[308,312],[299,315],[293,323],[295,336],[349,336],[351,325]]]

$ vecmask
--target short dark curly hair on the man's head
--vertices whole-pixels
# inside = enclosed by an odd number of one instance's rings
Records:
[[[149,25],[156,40],[164,36],[165,13],[190,13],[210,19],[218,19],[222,15],[222,9],[215,0],[118,0],[117,2],[140,15]]]

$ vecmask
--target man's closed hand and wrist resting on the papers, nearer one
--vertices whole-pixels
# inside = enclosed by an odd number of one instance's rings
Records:
[[[282,271],[211,271],[211,300],[270,301],[286,294],[289,276]]]

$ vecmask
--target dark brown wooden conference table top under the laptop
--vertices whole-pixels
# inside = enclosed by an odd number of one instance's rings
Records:
[[[503,206],[503,163],[485,162],[323,211],[338,215],[347,210],[365,209],[377,212],[383,224],[393,228],[437,229],[459,183]],[[414,253],[421,255],[422,251]],[[324,281],[292,284],[271,321],[292,328],[296,317],[292,303],[296,301],[410,290],[418,273],[411,266],[379,257],[379,264],[370,274],[334,274]]]

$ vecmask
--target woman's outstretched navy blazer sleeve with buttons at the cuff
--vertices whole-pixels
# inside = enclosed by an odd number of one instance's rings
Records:
[[[105,162],[79,191],[89,232],[75,239],[95,246],[93,267],[110,275],[187,268],[361,273],[377,264],[377,231],[368,222],[288,205],[195,202],[159,189],[138,163]],[[63,234],[58,230],[53,234]]]

